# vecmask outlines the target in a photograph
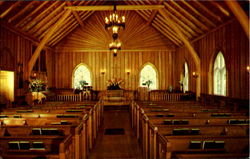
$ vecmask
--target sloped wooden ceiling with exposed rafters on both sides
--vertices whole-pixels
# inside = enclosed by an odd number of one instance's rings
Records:
[[[119,3],[119,5],[163,5],[164,11],[161,12],[158,10],[136,10],[132,12],[137,13],[145,20],[144,25],[154,27],[175,46],[183,45],[183,40],[173,29],[173,26],[180,30],[187,40],[192,41],[233,18],[233,14],[223,1],[124,0],[116,3]],[[0,19],[2,26],[40,42],[48,30],[67,11],[65,7],[112,4],[113,1],[105,0],[0,1]],[[72,10],[71,14],[50,36],[46,45],[55,47],[78,26],[83,27],[95,13],[96,11],[93,10]]]

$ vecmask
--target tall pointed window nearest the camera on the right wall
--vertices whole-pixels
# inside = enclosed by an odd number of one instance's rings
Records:
[[[226,74],[225,59],[223,54],[219,52],[214,61],[214,94],[226,95]]]

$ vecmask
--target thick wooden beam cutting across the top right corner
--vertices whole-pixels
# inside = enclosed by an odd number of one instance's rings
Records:
[[[243,30],[245,31],[248,39],[249,37],[249,19],[244,10],[241,8],[237,1],[226,1],[226,4],[231,9],[239,23],[241,24]]]

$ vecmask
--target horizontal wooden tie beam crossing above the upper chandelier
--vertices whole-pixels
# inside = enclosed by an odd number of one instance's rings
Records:
[[[163,5],[117,5],[116,10],[153,10],[164,8]],[[74,11],[114,10],[114,6],[68,6],[65,9]]]

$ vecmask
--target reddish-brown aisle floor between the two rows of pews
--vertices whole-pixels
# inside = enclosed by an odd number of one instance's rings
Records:
[[[113,106],[114,107],[114,106]],[[142,150],[132,131],[127,110],[104,110],[103,126],[99,131],[96,145],[90,159],[141,159]],[[105,129],[123,128],[124,135],[105,135]]]

